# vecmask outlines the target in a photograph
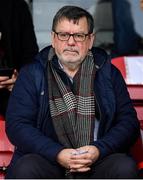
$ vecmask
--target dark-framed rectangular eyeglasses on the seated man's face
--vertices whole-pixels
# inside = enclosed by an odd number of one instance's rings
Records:
[[[64,33],[64,32],[55,32],[55,31],[54,33],[57,35],[58,39],[61,41],[68,41],[70,37],[72,36],[76,42],[85,41],[86,36],[89,35],[89,33],[88,34],[84,34],[84,33],[69,34],[69,33]]]

